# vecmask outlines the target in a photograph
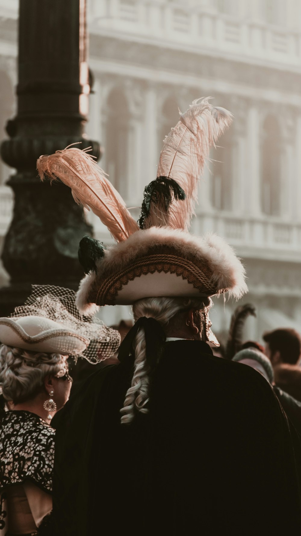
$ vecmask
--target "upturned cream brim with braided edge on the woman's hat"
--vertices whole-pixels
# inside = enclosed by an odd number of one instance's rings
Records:
[[[30,336],[13,318],[0,318],[0,343],[32,352],[80,354],[89,339],[64,329],[49,329]]]

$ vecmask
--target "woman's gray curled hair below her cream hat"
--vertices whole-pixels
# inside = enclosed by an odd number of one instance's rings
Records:
[[[6,401],[19,404],[35,396],[47,374],[56,376],[64,356],[0,346],[0,389]]]

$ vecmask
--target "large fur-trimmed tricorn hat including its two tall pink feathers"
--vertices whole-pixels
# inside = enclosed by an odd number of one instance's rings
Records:
[[[119,193],[86,151],[70,147],[37,161],[43,180],[59,178],[77,203],[99,216],[116,244],[104,249],[85,237],[79,258],[87,273],[78,308],[93,313],[106,304],[131,304],[151,296],[212,296],[247,290],[244,267],[219,236],[188,232],[198,180],[209,150],[232,114],[208,99],[193,101],[164,140],[157,178],[144,192],[139,226]]]

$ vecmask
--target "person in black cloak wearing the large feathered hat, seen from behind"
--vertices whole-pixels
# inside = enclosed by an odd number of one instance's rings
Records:
[[[38,161],[117,241],[81,242],[79,309],[132,304],[135,321],[120,363],[89,377],[54,419],[56,536],[300,533],[299,452],[279,401],[257,371],[210,347],[210,296],[243,295],[244,268],[216,235],[187,231],[209,148],[230,122],[207,99],[180,115],[140,230],[87,153]]]

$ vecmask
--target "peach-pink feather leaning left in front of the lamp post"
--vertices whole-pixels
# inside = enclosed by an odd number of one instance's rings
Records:
[[[41,156],[36,163],[40,178],[48,176],[51,181],[59,178],[71,188],[76,203],[91,209],[117,242],[126,240],[139,229],[138,224],[106,174],[86,151],[70,147]]]

